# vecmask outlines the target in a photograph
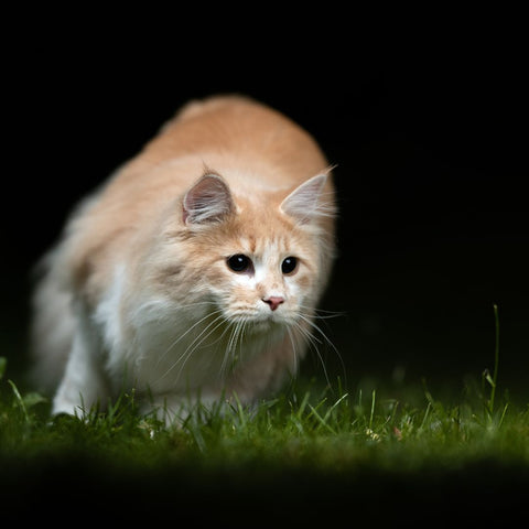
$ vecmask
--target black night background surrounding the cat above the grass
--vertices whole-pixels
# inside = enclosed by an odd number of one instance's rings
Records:
[[[465,39],[428,40],[427,28],[408,47],[330,29],[284,41],[270,26],[230,33],[228,45],[223,32],[176,39],[175,29],[163,41],[130,31],[110,47],[97,26],[67,28],[33,35],[4,65],[1,354],[12,369],[28,360],[30,269],[76,201],[188,99],[241,93],[289,115],[337,164],[339,258],[323,307],[343,315],[322,325],[349,382],[424,377],[458,388],[479,377],[494,364],[497,303],[499,380],[527,398],[516,34],[464,28]],[[331,377],[343,376],[327,349]],[[323,377],[315,355],[303,369]]]

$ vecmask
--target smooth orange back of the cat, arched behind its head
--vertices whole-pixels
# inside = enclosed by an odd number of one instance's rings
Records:
[[[110,180],[96,210],[159,209],[159,201],[184,193],[205,168],[236,187],[260,180],[288,190],[326,166],[317,143],[290,118],[247,97],[214,96],[187,104],[165,123]]]

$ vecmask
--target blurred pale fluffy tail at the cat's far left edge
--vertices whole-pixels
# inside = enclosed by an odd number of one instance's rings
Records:
[[[30,381],[36,389],[53,392],[61,381],[72,348],[75,319],[72,293],[57,269],[60,247],[48,252],[36,269],[33,295],[31,348],[34,367]]]

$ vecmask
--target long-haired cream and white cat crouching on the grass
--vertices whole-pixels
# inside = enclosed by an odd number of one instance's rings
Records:
[[[296,373],[335,257],[332,168],[253,99],[185,105],[74,209],[33,296],[34,377],[52,413],[134,388],[250,403]],[[162,411],[160,411],[162,410]]]

